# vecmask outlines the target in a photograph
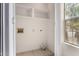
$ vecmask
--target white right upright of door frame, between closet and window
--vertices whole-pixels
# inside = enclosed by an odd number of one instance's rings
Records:
[[[63,55],[64,3],[55,3],[55,56]]]

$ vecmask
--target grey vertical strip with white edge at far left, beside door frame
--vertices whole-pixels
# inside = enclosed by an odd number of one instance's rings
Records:
[[[9,56],[9,3],[2,3],[3,56]]]

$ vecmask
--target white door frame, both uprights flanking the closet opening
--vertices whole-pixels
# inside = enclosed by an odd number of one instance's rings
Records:
[[[55,3],[55,44],[54,52],[55,56],[62,56],[62,45],[64,40],[64,27],[63,27],[63,3]],[[16,11],[15,3],[9,4],[9,55],[16,56]],[[60,29],[60,30],[59,30]]]

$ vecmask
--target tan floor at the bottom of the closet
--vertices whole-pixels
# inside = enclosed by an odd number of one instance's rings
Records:
[[[46,50],[38,49],[28,52],[17,53],[16,56],[54,56],[54,54],[48,49]]]

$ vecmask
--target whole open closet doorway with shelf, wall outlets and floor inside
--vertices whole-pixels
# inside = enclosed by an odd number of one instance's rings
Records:
[[[54,56],[54,9],[53,3],[15,4],[17,56]]]

